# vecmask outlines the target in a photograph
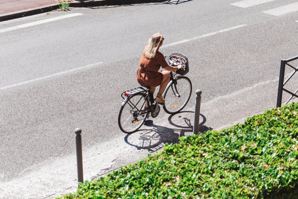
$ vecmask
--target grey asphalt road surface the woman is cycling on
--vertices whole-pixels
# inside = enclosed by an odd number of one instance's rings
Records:
[[[0,198],[18,198],[18,191],[26,193],[25,198],[45,198],[76,187],[76,173],[69,174],[71,182],[59,174],[65,174],[69,165],[75,168],[71,160],[77,127],[83,130],[84,157],[94,160],[86,158],[84,163],[86,169],[92,168],[87,169],[85,179],[92,179],[159,151],[166,142],[176,143],[179,136],[190,135],[196,89],[203,91],[201,132],[274,107],[280,59],[298,54],[298,12],[273,16],[263,11],[296,1],[248,8],[230,5],[233,2],[192,0],[81,8],[1,22],[0,32],[66,14],[83,14],[0,33]],[[217,32],[239,25],[243,26]],[[140,131],[126,135],[117,124],[120,94],[139,86],[140,56],[147,39],[156,32],[165,37],[165,46],[170,44],[160,49],[162,53],[188,56],[186,76],[192,81],[192,98],[180,115],[161,110]],[[214,34],[198,38],[209,33]],[[187,39],[190,41],[174,44]],[[296,90],[295,78],[289,89]],[[42,177],[53,176],[49,165],[58,168],[51,181],[59,186],[49,186],[49,179]],[[36,176],[31,183],[22,188],[16,185],[29,174]],[[12,184],[17,188],[11,188]]]

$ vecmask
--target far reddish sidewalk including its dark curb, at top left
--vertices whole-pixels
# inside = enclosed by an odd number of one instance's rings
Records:
[[[96,7],[163,2],[165,0],[65,0],[69,7]],[[0,0],[0,22],[59,9],[57,0]]]

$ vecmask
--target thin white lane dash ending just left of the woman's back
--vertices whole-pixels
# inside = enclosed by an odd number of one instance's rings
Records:
[[[86,66],[81,66],[81,67],[78,67],[78,68],[74,68],[74,69],[70,69],[70,70],[65,70],[65,71],[62,71],[62,72],[59,72],[59,73],[55,73],[55,74],[52,74],[52,75],[38,77],[38,78],[35,78],[35,79],[32,79],[32,80],[27,80],[27,81],[20,82],[20,83],[17,83],[17,84],[11,84],[11,85],[8,85],[8,86],[0,87],[0,91],[1,90],[5,90],[5,89],[8,89],[8,88],[12,88],[12,87],[20,86],[20,85],[23,85],[23,84],[29,84],[29,83],[36,82],[36,81],[39,81],[39,80],[44,80],[44,79],[48,79],[48,78],[51,78],[51,77],[64,75],[66,73],[71,73],[71,72],[74,72],[74,71],[77,71],[77,70],[90,68],[92,66],[97,66],[97,65],[102,64],[102,63],[103,62],[97,62],[97,63],[94,63],[94,64],[89,64],[89,65],[86,65]]]

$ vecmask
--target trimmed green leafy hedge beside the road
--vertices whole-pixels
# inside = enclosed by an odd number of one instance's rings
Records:
[[[298,198],[298,104],[181,137],[60,198]]]

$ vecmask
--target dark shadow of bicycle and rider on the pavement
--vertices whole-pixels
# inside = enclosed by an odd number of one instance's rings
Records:
[[[150,153],[160,150],[165,143],[179,143],[179,137],[192,135],[193,125],[191,121],[193,121],[193,118],[191,117],[193,116],[191,115],[194,115],[194,112],[182,111],[175,115],[170,115],[168,117],[169,124],[176,128],[155,125],[152,120],[146,120],[144,126],[148,128],[127,134],[124,137],[124,141],[138,150],[146,149]],[[203,118],[203,121],[200,123],[199,132],[204,133],[207,130],[212,130],[212,128],[203,125],[206,122],[206,117],[202,114],[200,116]]]

